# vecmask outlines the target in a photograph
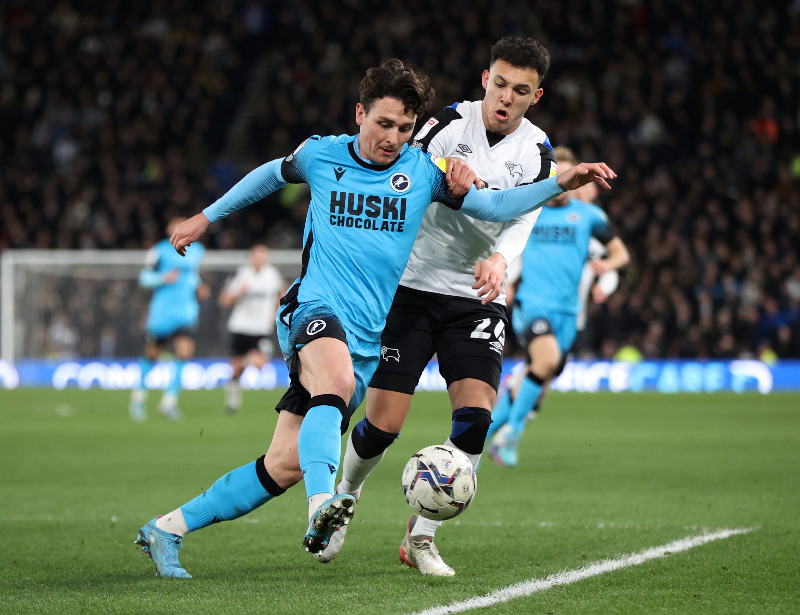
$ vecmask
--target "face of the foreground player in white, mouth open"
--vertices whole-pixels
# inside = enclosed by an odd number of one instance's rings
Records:
[[[510,134],[535,105],[544,90],[539,87],[539,73],[498,60],[483,71],[483,123],[490,133]]]

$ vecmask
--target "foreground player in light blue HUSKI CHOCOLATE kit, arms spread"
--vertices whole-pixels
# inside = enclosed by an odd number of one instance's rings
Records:
[[[356,136],[310,137],[283,160],[262,165],[222,199],[181,224],[179,253],[209,224],[261,200],[289,182],[307,183],[302,274],[281,301],[278,338],[292,387],[278,404],[266,455],[232,470],[205,493],[139,530],[137,544],[159,575],[189,577],[178,562],[182,536],[241,517],[303,480],[309,504],[306,551],[325,549],[350,522],[355,499],[334,496],[342,434],[362,402],[378,363],[381,332],[426,209],[434,201],[480,218],[510,220],[590,181],[608,188],[602,163],[505,191],[448,193],[447,161],[407,145],[418,116],[433,100],[422,73],[390,60],[370,69],[359,87]],[[466,171],[465,171],[466,169]],[[458,176],[448,175],[460,184]],[[466,182],[472,183],[474,173]]]

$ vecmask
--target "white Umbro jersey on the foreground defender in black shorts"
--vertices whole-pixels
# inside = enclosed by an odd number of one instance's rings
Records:
[[[414,137],[413,147],[438,157],[461,157],[489,188],[503,190],[555,175],[555,156],[545,133],[522,119],[513,133],[488,133],[482,101],[442,109]],[[474,266],[500,252],[507,263],[520,254],[540,209],[510,222],[486,222],[434,203],[422,219],[400,284],[420,291],[478,299]],[[495,300],[504,303],[506,288]]]

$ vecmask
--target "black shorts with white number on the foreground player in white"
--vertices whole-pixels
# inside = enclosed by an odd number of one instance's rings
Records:
[[[448,387],[474,378],[497,391],[507,324],[505,305],[400,286],[370,387],[413,395],[435,353]]]

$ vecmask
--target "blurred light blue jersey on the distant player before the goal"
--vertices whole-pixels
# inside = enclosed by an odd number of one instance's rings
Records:
[[[195,243],[180,256],[164,239],[150,248],[145,268],[139,274],[139,285],[153,288],[150,312],[147,315],[147,332],[157,337],[166,337],[181,327],[193,327],[197,323],[200,306],[197,288],[200,284],[198,270],[206,248]],[[178,278],[171,283],[166,277],[178,271]]]

